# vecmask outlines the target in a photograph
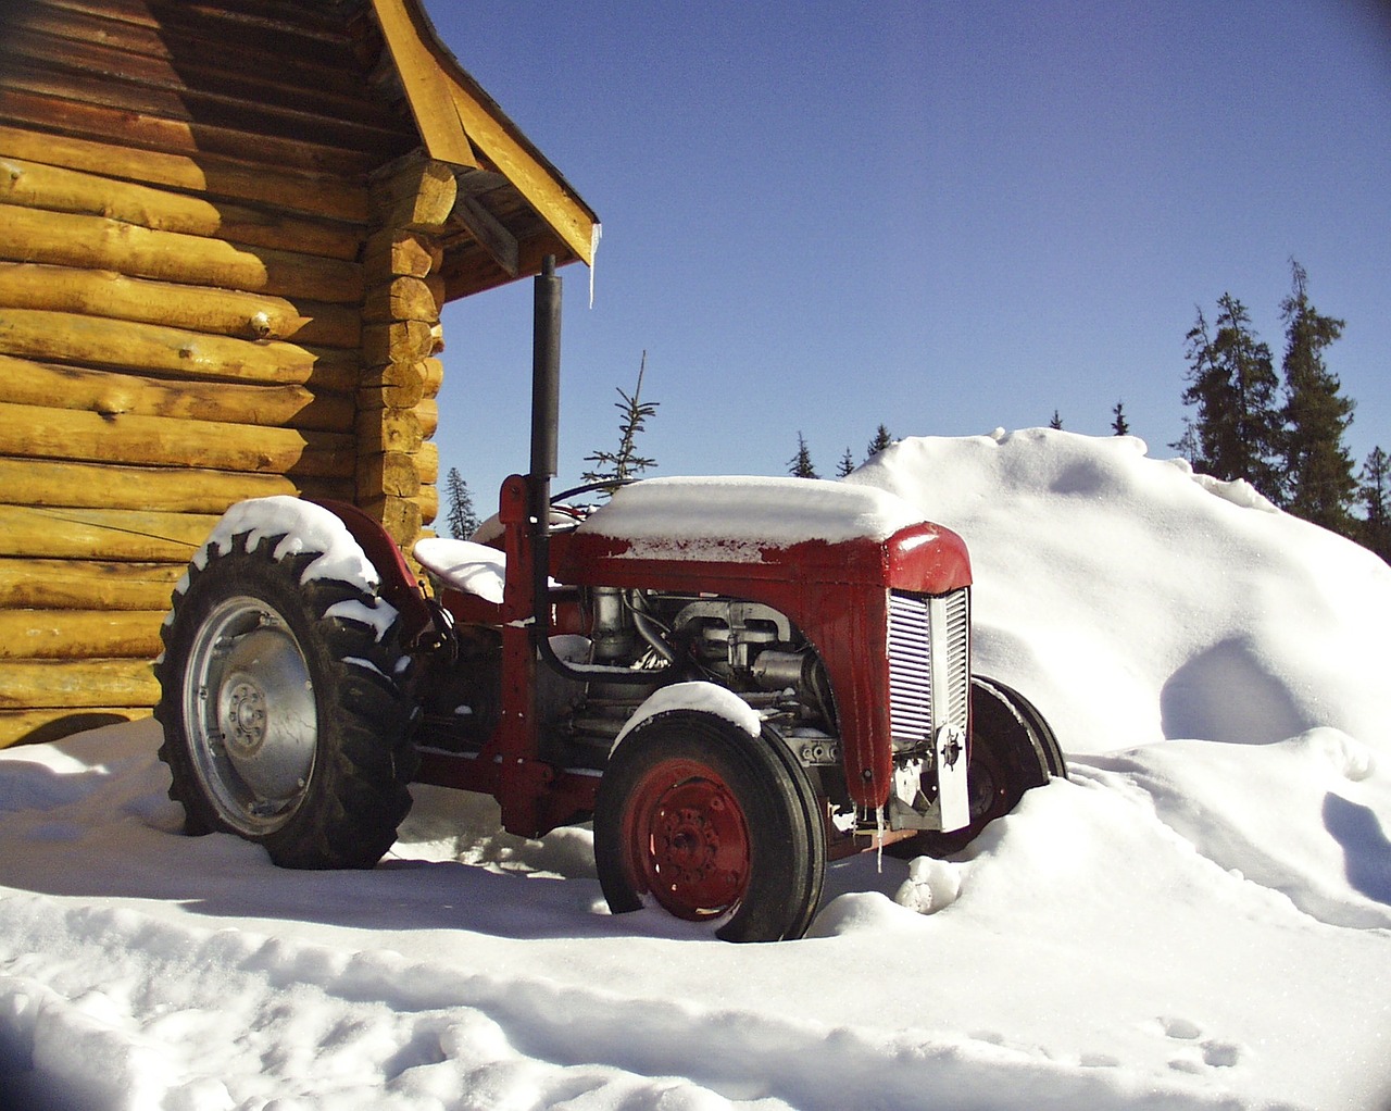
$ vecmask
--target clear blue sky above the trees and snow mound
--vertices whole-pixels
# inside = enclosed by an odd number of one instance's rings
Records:
[[[1391,451],[1391,14],[1262,3],[427,0],[604,221],[566,267],[561,484],[661,402],[655,473],[823,475],[896,436],[1182,433],[1230,291],[1278,363],[1289,259]],[[530,283],[445,310],[441,473],[527,469]]]

